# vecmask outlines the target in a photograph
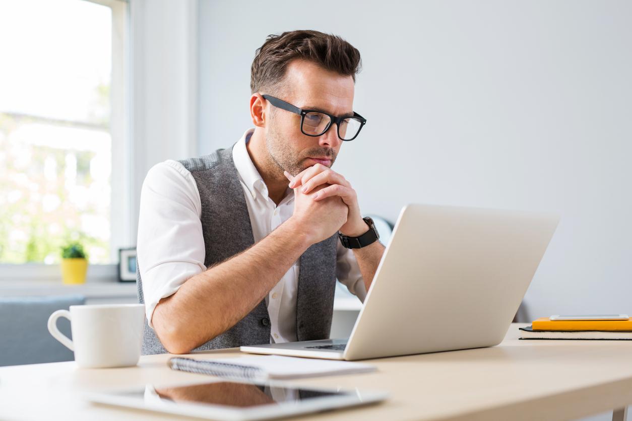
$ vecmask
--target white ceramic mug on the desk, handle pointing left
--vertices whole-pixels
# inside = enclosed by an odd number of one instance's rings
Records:
[[[57,319],[70,320],[73,340],[57,328]],[[48,319],[48,330],[75,352],[80,367],[127,367],[138,364],[143,341],[145,305],[71,305]]]

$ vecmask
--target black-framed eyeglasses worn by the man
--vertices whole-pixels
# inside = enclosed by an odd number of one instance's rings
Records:
[[[270,97],[270,95],[262,95],[262,97],[277,108],[301,116],[301,132],[307,136],[322,136],[327,133],[332,123],[336,123],[338,137],[341,140],[350,141],[358,137],[362,126],[367,123],[367,119],[357,112],[353,112],[351,117],[336,117],[319,110],[303,110],[279,98]]]

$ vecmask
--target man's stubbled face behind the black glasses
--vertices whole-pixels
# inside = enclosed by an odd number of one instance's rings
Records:
[[[295,60],[286,71],[286,88],[280,98],[301,109],[321,110],[334,116],[353,112],[354,83],[351,76],[320,68],[312,62]],[[277,170],[296,175],[302,170],[322,163],[333,165],[342,144],[337,135],[337,126],[332,123],[322,136],[307,136],[301,132],[301,116],[275,109],[270,124],[265,127],[265,139],[270,158]]]

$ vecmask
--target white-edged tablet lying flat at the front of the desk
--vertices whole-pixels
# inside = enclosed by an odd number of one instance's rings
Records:
[[[147,384],[85,394],[87,400],[210,420],[266,420],[365,405],[386,399],[380,391],[320,389],[285,382],[214,379],[188,384]]]

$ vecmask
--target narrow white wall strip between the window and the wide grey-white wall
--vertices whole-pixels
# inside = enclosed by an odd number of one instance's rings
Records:
[[[131,165],[133,244],[149,169],[196,153],[197,11],[197,0],[130,2],[131,157],[113,165]]]

